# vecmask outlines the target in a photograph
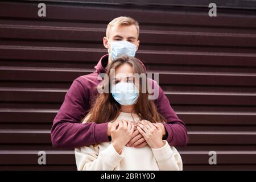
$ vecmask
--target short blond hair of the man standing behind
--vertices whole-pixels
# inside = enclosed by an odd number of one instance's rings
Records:
[[[128,16],[119,16],[115,19],[113,19],[111,22],[109,22],[108,27],[106,29],[106,37],[109,38],[110,30],[111,28],[115,26],[130,26],[130,25],[135,25],[137,29],[137,38],[139,38],[139,23]]]

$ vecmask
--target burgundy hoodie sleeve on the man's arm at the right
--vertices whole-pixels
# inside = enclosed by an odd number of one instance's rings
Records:
[[[188,133],[185,123],[177,117],[168,98],[164,95],[163,89],[154,80],[152,82],[153,88],[159,90],[158,98],[155,101],[158,112],[167,119],[167,123],[163,123],[167,131],[165,139],[171,146],[186,146],[188,143]]]

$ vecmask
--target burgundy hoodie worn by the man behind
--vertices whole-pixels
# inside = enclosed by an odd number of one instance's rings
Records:
[[[75,148],[109,142],[108,121],[100,124],[81,123],[81,119],[90,109],[91,99],[97,96],[96,86],[101,82],[98,80],[98,75],[106,73],[107,64],[108,55],[104,55],[94,67],[96,70],[93,73],[80,76],[73,81],[59,112],[53,120],[51,139],[54,147]],[[164,123],[167,131],[165,139],[172,146],[187,145],[188,134],[184,122],[177,117],[162,88],[155,81],[152,83],[153,88],[154,85],[159,88],[159,97],[155,100],[158,112],[168,121],[168,123]]]

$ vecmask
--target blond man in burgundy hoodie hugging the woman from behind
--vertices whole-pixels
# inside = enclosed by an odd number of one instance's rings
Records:
[[[94,67],[95,72],[80,76],[73,81],[53,121],[51,139],[54,147],[82,147],[111,140],[112,123],[108,121],[99,124],[81,123],[81,119],[90,109],[91,99],[97,95],[96,86],[101,82],[98,80],[98,75],[105,73],[111,61],[118,55],[126,53],[134,56],[139,47],[138,38],[138,22],[132,18],[120,16],[108,24],[103,43],[109,54],[101,57]],[[185,146],[188,143],[185,124],[171,108],[160,86],[158,88],[159,96],[155,104],[159,113],[168,121],[168,123],[157,123],[163,131],[163,139],[172,146]],[[127,146],[144,147],[146,144],[143,136],[135,130]]]

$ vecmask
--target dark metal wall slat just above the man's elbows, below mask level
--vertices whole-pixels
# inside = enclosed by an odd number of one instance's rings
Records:
[[[52,123],[58,110],[53,109],[0,109],[0,123]],[[256,125],[256,113],[176,111],[186,125]],[[36,118],[36,119],[35,119]]]

